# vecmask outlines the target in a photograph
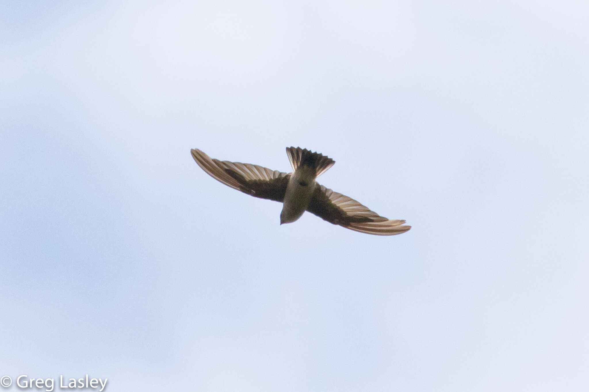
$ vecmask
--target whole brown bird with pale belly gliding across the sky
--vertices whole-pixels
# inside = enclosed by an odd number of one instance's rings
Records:
[[[198,166],[215,180],[254,197],[282,202],[281,225],[294,222],[309,211],[332,224],[367,234],[395,235],[411,228],[403,226],[404,220],[381,217],[358,201],[318,184],[316,178],[335,161],[306,148],[286,148],[292,173],[219,161],[196,148],[190,152]]]

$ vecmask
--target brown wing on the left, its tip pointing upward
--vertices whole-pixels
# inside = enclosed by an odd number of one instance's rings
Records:
[[[215,180],[254,197],[284,200],[290,174],[258,165],[219,161],[197,149],[190,152],[198,166]]]

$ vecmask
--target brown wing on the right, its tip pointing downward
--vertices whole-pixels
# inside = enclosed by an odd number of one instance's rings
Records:
[[[402,226],[405,223],[403,220],[381,217],[358,201],[319,184],[315,188],[307,211],[327,222],[367,234],[395,235],[411,228]]]

